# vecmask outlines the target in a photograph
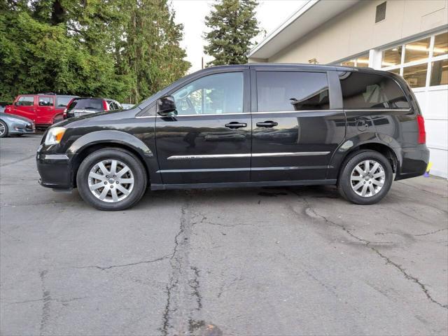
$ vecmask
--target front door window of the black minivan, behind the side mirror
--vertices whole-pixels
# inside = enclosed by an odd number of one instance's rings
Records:
[[[243,112],[243,73],[204,76],[172,94],[177,114],[201,115]]]

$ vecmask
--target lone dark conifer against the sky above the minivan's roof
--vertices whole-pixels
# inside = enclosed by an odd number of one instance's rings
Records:
[[[260,33],[255,18],[256,0],[220,0],[214,4],[205,25],[208,45],[204,52],[214,60],[207,65],[245,64],[251,40]]]

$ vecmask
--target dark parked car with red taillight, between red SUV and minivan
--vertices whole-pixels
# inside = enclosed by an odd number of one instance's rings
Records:
[[[64,111],[63,118],[85,116],[86,114],[123,110],[123,106],[113,99],[105,98],[73,98]]]

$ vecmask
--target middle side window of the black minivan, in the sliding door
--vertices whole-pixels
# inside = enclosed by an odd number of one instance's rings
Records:
[[[328,79],[320,72],[257,72],[258,111],[329,108]]]

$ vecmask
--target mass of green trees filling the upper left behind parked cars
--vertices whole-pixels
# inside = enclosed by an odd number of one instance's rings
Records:
[[[183,76],[166,0],[0,0],[0,100],[57,92],[138,103]]]

